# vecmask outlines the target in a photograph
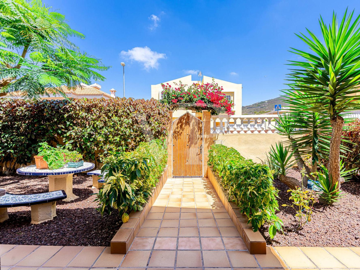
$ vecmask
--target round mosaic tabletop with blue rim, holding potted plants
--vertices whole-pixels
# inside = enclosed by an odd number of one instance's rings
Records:
[[[68,168],[67,164],[64,167],[56,170],[37,169],[36,165],[30,165],[16,170],[17,174],[21,175],[62,175],[75,174],[76,172],[89,171],[95,167],[94,163],[84,162],[84,165],[77,168]]]

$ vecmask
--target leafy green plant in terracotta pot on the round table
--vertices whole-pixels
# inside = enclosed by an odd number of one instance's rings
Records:
[[[51,147],[48,143],[40,143],[38,154],[35,156],[37,169],[55,170],[64,166],[63,149]]]

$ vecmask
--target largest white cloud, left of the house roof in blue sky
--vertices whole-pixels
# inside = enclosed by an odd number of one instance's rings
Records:
[[[148,46],[145,47],[135,47],[131,50],[121,51],[120,55],[129,60],[134,60],[144,65],[144,68],[149,71],[150,68],[159,67],[159,59],[165,59],[165,53],[158,53],[157,51],[152,51]]]

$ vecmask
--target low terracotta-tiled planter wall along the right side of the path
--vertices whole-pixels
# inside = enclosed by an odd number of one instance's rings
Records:
[[[252,230],[251,224],[248,224],[246,216],[240,213],[239,207],[234,202],[228,201],[228,191],[223,189],[220,176],[216,175],[210,167],[207,168],[207,175],[250,254],[266,254],[266,240],[259,231]]]

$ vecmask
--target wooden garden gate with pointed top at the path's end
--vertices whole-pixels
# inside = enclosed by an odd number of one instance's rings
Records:
[[[172,122],[172,175],[203,176],[203,122],[185,113]]]

